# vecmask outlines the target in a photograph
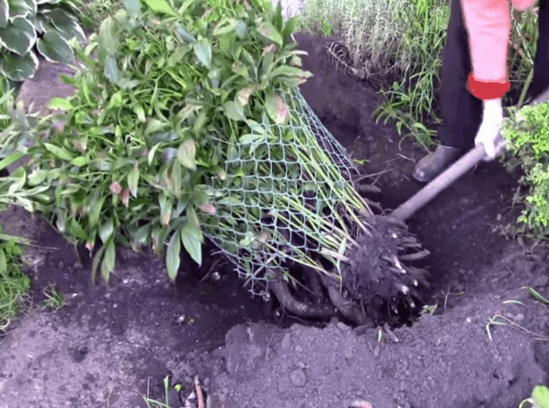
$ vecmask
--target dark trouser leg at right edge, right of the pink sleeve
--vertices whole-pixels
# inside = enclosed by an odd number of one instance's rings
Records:
[[[549,87],[549,0],[539,1],[538,33],[534,78],[528,89],[533,98]]]

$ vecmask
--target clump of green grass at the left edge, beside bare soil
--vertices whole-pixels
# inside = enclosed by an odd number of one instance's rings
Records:
[[[21,243],[25,240],[1,233],[0,227],[0,334],[24,307],[30,279],[21,269]]]

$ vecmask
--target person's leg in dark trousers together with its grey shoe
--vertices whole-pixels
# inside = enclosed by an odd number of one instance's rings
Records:
[[[474,146],[482,121],[482,103],[465,87],[470,71],[469,38],[463,23],[461,1],[451,0],[446,44],[442,51],[440,145],[415,166],[413,177],[417,181],[431,181]]]

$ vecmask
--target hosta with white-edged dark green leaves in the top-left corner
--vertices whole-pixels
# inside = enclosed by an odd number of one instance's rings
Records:
[[[34,75],[37,55],[70,64],[69,40],[84,41],[79,0],[0,0],[0,75],[20,82]]]

